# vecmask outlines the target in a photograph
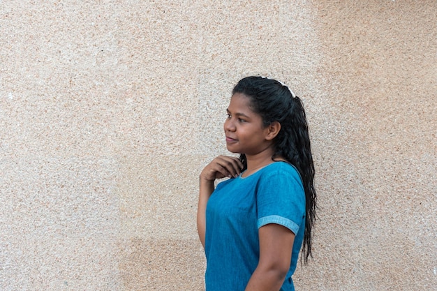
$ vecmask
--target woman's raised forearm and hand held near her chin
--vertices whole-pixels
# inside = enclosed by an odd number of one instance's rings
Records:
[[[205,248],[206,210],[209,196],[214,191],[214,181],[224,177],[237,177],[243,165],[238,158],[218,156],[212,160],[200,173],[199,203],[198,203],[198,234]]]

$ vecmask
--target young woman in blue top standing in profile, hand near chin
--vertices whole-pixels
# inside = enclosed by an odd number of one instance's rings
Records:
[[[316,217],[304,107],[280,82],[246,77],[227,114],[226,147],[240,156],[218,156],[200,173],[206,290],[294,290],[291,276],[302,244],[305,262],[311,255]]]

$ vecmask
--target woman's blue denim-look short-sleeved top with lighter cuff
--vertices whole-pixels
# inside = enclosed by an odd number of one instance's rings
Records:
[[[295,290],[291,276],[305,230],[305,194],[295,167],[275,162],[249,177],[222,181],[209,198],[206,219],[207,291],[244,291],[258,265],[258,228],[269,223],[295,234],[290,269],[281,288]]]

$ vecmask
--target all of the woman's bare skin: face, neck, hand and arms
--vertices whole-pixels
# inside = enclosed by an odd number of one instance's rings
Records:
[[[244,94],[234,94],[228,107],[225,130],[226,147],[232,153],[246,154],[247,170],[244,177],[253,174],[272,161],[274,137],[281,124],[274,122],[262,126],[262,118],[249,107],[250,99]],[[278,158],[281,161],[283,159]],[[218,156],[200,173],[198,204],[198,234],[205,248],[206,207],[214,191],[215,179],[236,177],[243,165],[238,158]],[[260,260],[253,272],[246,291],[279,290],[290,267],[292,244],[295,234],[282,225],[268,224],[258,230]]]

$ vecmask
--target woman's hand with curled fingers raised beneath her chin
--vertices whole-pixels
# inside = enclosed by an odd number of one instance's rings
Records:
[[[233,156],[218,156],[214,158],[200,173],[200,180],[214,181],[225,177],[237,177],[243,164]]]

